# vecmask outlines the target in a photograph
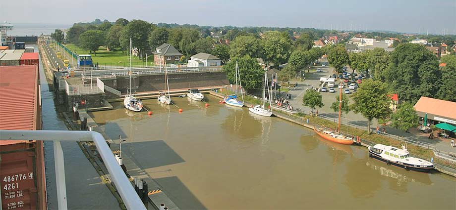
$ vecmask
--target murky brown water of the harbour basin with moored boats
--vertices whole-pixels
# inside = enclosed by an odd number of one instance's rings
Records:
[[[91,115],[181,209],[456,209],[451,176],[387,166],[366,148],[207,97],[208,108],[173,98],[180,114],[153,99],[152,116],[121,103]]]

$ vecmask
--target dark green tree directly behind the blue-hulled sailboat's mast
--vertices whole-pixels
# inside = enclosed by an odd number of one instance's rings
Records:
[[[253,89],[261,87],[263,84],[264,70],[255,58],[246,55],[243,57],[234,57],[226,65],[223,66],[224,71],[227,73],[228,80],[232,83],[235,82],[236,76],[236,61],[239,66],[239,73],[241,75],[242,86],[246,89]]]

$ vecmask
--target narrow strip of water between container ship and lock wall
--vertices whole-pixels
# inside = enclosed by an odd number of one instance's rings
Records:
[[[35,46],[35,52],[38,48]],[[44,52],[43,52],[44,53]],[[43,129],[67,130],[64,120],[57,117],[54,92],[49,91],[40,57],[41,103]],[[76,142],[61,142],[66,179],[68,209],[119,209],[113,194],[104,185]],[[56,174],[53,142],[44,142],[48,209],[57,210]],[[103,201],[103,202],[100,202]]]

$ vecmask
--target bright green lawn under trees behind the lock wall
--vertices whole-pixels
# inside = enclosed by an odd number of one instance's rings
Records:
[[[127,53],[122,53],[122,51],[107,51],[105,47],[100,47],[99,50],[97,50],[97,55],[94,55],[93,53],[89,53],[88,50],[81,49],[74,44],[63,44],[66,46],[69,50],[73,51],[76,54],[90,54],[92,55],[92,61],[94,64],[100,65],[100,66],[128,66],[129,65],[129,59],[130,57],[128,56]],[[148,55],[147,56],[147,63],[148,65],[151,64],[151,62],[154,61],[154,56]],[[131,57],[131,65],[146,65],[146,62],[141,61],[136,56]]]

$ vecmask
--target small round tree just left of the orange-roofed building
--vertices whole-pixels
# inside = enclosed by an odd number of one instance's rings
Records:
[[[418,115],[413,104],[405,102],[399,105],[398,110],[391,117],[391,126],[408,132],[408,129],[418,125]]]

